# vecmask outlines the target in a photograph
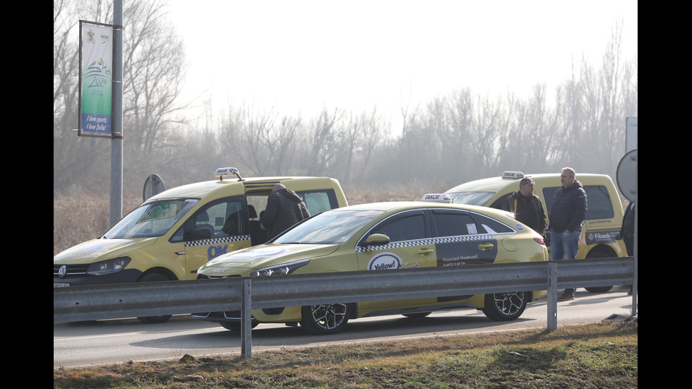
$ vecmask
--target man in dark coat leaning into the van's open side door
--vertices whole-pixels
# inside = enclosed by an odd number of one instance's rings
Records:
[[[276,184],[260,218],[260,227],[269,230],[271,239],[306,217],[310,217],[310,213],[303,199],[286,186]]]

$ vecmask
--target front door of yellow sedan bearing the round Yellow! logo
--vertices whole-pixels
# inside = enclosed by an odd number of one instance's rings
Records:
[[[362,242],[372,234],[389,237],[389,243],[364,246]],[[436,266],[435,245],[429,239],[429,223],[423,210],[398,213],[375,225],[359,241],[357,252],[359,270],[390,270],[400,268],[429,268]],[[387,309],[396,306],[419,305],[428,299],[371,301],[362,303],[361,309]]]

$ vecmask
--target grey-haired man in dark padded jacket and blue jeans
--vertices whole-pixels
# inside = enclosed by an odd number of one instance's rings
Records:
[[[560,175],[562,186],[555,191],[550,213],[550,259],[577,258],[581,224],[586,218],[587,198],[582,184],[576,180],[571,167],[564,167]],[[558,301],[574,299],[574,289],[565,289]]]

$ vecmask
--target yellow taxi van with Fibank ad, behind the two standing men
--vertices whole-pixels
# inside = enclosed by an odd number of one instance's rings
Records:
[[[541,198],[548,222],[555,191],[561,186],[560,174],[523,174],[503,172],[502,176],[469,181],[449,189],[447,193],[454,203],[483,205],[501,209],[501,204],[515,191],[524,177],[532,179],[536,186],[534,194]],[[577,259],[614,258],[627,256],[625,244],[620,237],[622,226],[622,203],[612,179],[604,174],[577,173],[577,180],[584,186],[588,207],[582,226]],[[550,246],[549,232],[546,244]],[[587,287],[590,292],[607,292],[611,287]]]

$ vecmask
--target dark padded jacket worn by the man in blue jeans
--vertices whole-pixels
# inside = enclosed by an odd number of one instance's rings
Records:
[[[552,232],[581,231],[586,219],[587,198],[582,184],[575,180],[569,188],[561,186],[555,191],[555,200],[550,212]]]

